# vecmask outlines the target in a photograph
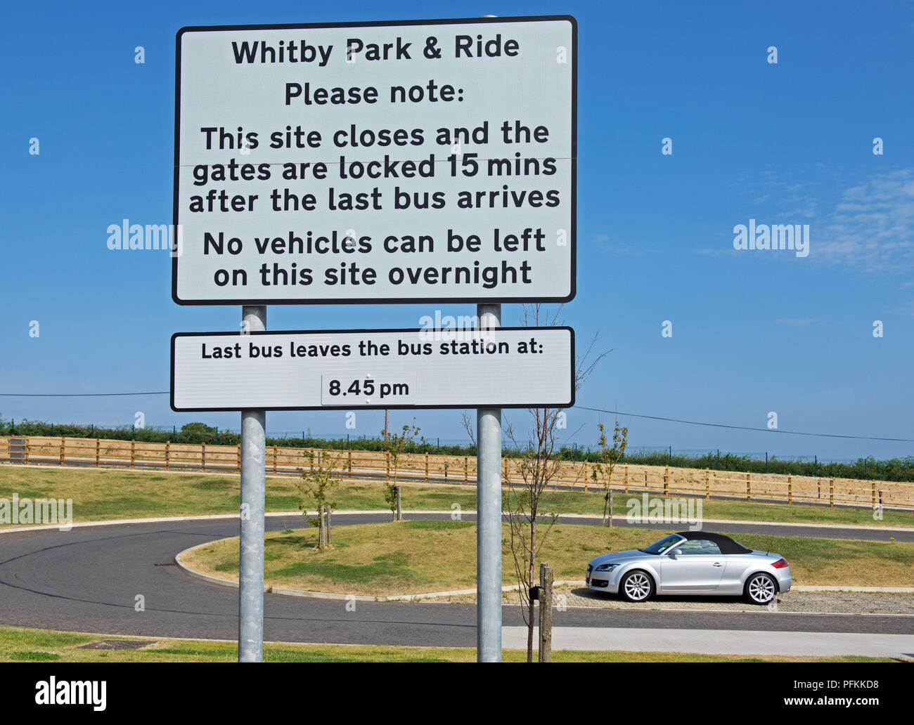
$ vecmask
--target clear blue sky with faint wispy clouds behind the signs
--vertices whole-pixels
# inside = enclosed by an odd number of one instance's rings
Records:
[[[568,13],[579,22],[579,277],[562,319],[579,345],[599,333],[597,348],[612,350],[579,404],[760,428],[775,411],[784,430],[914,438],[914,4],[795,5],[7,4],[0,393],[167,390],[173,332],[237,327],[238,308],[175,305],[164,254],[105,244],[123,218],[170,223],[179,27]],[[733,227],[750,218],[808,224],[809,256],[734,250]],[[414,327],[434,309],[274,306],[268,324]],[[505,324],[519,315],[505,305]],[[4,418],[130,425],[137,411],[148,425],[239,426],[236,414],[175,414],[165,395],[0,398]],[[376,435],[383,417],[360,413],[356,434]],[[459,411],[417,418],[426,436],[464,437]],[[570,411],[569,431],[593,443],[600,419],[611,415]],[[622,420],[635,447],[912,452]],[[268,415],[273,432],[344,424],[342,411]]]

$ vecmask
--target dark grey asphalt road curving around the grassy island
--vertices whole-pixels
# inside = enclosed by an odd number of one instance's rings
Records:
[[[335,525],[381,520],[383,515],[337,515]],[[268,517],[269,530],[283,526],[282,518]],[[197,520],[2,534],[0,624],[234,639],[238,590],[184,573],[175,566],[174,557],[199,543],[236,536],[238,530],[237,520]],[[823,535],[822,530],[813,531]],[[779,527],[777,533],[784,531]],[[144,598],[143,612],[134,608],[138,594]],[[264,607],[267,640],[426,646],[475,646],[476,642],[473,605],[357,602],[352,612],[341,600],[266,594]],[[503,617],[506,626],[523,625],[517,607],[505,606]],[[767,610],[747,614],[569,608],[555,612],[553,623],[557,627],[914,633],[914,617],[909,616],[792,615]]]

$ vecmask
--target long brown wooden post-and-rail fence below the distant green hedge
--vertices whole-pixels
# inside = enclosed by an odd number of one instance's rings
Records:
[[[314,459],[306,453],[314,454]],[[302,468],[332,456],[352,478],[390,478],[391,457],[384,451],[326,450],[268,446],[268,474],[294,475]],[[151,443],[49,436],[0,436],[0,462],[81,466],[97,468],[158,468],[165,470],[238,472],[240,446]],[[524,483],[518,459],[504,458],[505,484]],[[551,483],[585,491],[602,490],[593,478],[595,466],[582,461],[556,463]],[[476,481],[476,459],[470,456],[401,454],[397,477],[404,481],[447,482],[469,485]],[[611,486],[625,493],[643,492],[746,501],[813,503],[914,510],[914,482],[813,478],[783,474],[736,473],[698,468],[620,464],[612,472]]]

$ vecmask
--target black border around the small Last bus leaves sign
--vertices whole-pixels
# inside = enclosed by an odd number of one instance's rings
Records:
[[[376,332],[430,332],[430,331],[473,331],[479,330],[479,328],[421,328],[421,327],[411,327],[411,328],[392,328],[392,329],[364,329],[364,330],[263,330],[263,331],[250,331],[245,335],[237,330],[229,330],[223,332],[175,332],[171,336],[171,389],[168,394],[168,402],[171,405],[171,409],[175,413],[208,413],[208,412],[235,412],[239,411],[239,408],[176,408],[175,407],[175,339],[179,337],[213,337],[215,335],[236,335],[238,337],[251,337],[254,335],[308,335],[308,334],[360,334],[360,333],[376,333]],[[462,410],[466,408],[571,408],[575,404],[575,356],[574,356],[574,330],[568,325],[556,325],[555,327],[495,327],[489,328],[491,331],[517,331],[525,330],[530,332],[537,332],[543,330],[567,330],[571,335],[571,360],[569,366],[571,369],[571,400],[568,405],[556,404],[556,403],[524,403],[524,404],[504,404],[504,403],[486,403],[484,405],[480,404],[467,404],[467,405],[356,405],[351,408],[346,408],[345,405],[312,405],[308,407],[298,407],[295,405],[288,405],[282,407],[269,407],[269,408],[250,408],[250,410]],[[245,408],[249,410],[249,408]]]

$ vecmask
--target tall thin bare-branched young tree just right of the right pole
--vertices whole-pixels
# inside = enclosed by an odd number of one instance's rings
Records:
[[[525,305],[522,323],[525,327],[552,327],[560,324],[560,313],[561,307],[551,314],[542,305]],[[593,357],[596,340],[594,337],[584,354],[575,361],[575,391],[580,389],[603,356],[611,352],[602,352]],[[536,584],[534,577],[539,552],[566,500],[562,492],[550,488],[550,483],[558,477],[564,462],[558,455],[558,438],[564,435],[565,413],[560,408],[530,408],[528,412],[531,427],[529,438],[523,445],[518,443],[519,434],[515,433],[515,426],[505,426],[505,436],[514,443],[516,450],[516,475],[507,479],[508,490],[503,497],[503,510],[508,519],[508,543],[518,583],[521,612],[527,626],[526,661],[533,662],[536,603],[530,598],[530,589]],[[463,426],[475,441],[472,423],[466,415],[463,416]],[[520,436],[524,437],[526,436]],[[578,476],[582,475],[582,470],[583,466]]]

